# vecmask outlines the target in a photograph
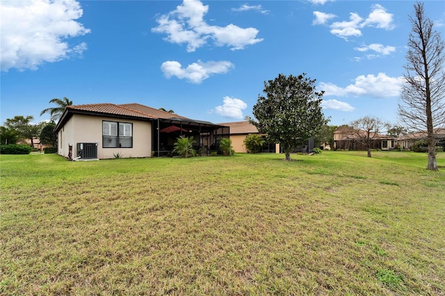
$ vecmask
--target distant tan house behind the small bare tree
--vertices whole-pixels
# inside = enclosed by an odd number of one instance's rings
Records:
[[[365,131],[362,131],[365,133]],[[389,135],[371,133],[373,142],[371,149],[391,150],[396,145],[396,138]],[[334,149],[366,150],[366,147],[359,141],[360,138],[350,126],[339,126],[334,131]]]

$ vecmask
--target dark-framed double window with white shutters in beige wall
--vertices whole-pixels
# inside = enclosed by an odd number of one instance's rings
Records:
[[[102,147],[133,147],[133,124],[126,122],[102,122]]]

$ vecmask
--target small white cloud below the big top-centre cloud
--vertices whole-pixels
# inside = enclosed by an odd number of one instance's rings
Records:
[[[192,63],[186,68],[183,68],[181,63],[175,60],[168,60],[162,63],[161,70],[167,78],[177,76],[179,79],[186,79],[191,83],[199,84],[211,75],[225,74],[233,67],[234,65],[226,60],[220,60],[218,62],[209,61],[207,63],[198,60],[197,63]]]

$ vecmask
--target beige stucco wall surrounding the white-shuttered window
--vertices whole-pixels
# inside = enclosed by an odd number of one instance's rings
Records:
[[[133,124],[133,148],[102,148],[102,121],[129,122]],[[58,133],[59,152],[68,156],[68,146],[72,145],[72,157],[76,157],[76,145],[83,142],[97,142],[97,158],[114,158],[120,154],[128,157],[149,157],[152,155],[152,123],[138,120],[118,120],[114,117],[74,114]],[[61,138],[60,138],[61,137]]]

